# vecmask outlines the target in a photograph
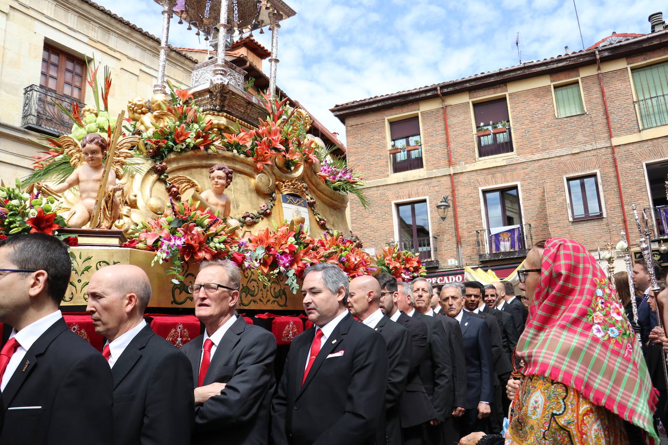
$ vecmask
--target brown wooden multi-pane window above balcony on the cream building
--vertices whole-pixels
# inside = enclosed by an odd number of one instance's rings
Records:
[[[83,102],[86,63],[60,49],[44,45],[39,86]]]

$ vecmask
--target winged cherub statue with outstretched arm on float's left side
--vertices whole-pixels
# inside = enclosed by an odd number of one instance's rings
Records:
[[[116,184],[116,178],[122,176],[122,165],[126,163],[125,159],[132,157],[129,147],[136,145],[139,137],[124,137],[116,147],[116,155],[112,162],[113,171],[110,172],[106,192],[106,198],[110,199],[110,204],[106,206],[106,212],[109,213],[106,219],[113,224],[119,215],[120,203],[116,197],[116,191],[122,190],[121,185]],[[93,209],[98,197],[98,191],[104,175],[104,153],[107,149],[107,140],[99,133],[88,133],[81,140],[81,145],[76,139],[69,135],[58,138],[65,155],[70,157],[69,163],[75,167],[75,170],[65,182],[57,185],[45,185],[43,183],[35,184],[47,194],[62,193],[63,191],[79,186],[79,200],[69,210],[69,215],[65,218],[67,226],[72,228],[81,228],[88,224],[91,219]]]

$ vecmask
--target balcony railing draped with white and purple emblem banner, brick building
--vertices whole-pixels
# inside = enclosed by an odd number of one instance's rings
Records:
[[[476,244],[481,262],[526,256],[534,244],[531,224],[476,230]]]

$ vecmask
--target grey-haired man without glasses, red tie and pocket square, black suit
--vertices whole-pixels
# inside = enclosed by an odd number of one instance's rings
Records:
[[[346,309],[348,278],[339,266],[307,268],[301,292],[315,326],[290,345],[272,404],[275,445],[385,443],[379,434],[388,375],[383,337]]]

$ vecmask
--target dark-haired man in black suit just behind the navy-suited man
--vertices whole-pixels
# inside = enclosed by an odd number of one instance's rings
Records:
[[[503,426],[503,406],[502,406],[502,384],[507,382],[512,371],[510,360],[506,355],[506,338],[503,335],[503,324],[500,317],[483,312],[486,308],[482,302],[482,292],[484,288],[480,282],[464,283],[464,310],[470,312],[473,316],[482,317],[487,328],[490,330],[490,343],[492,346],[492,363],[494,364],[494,400],[490,404],[492,413],[490,414],[490,432],[498,434]],[[496,311],[497,314],[502,314]]]

